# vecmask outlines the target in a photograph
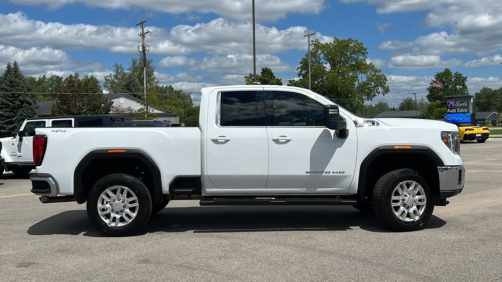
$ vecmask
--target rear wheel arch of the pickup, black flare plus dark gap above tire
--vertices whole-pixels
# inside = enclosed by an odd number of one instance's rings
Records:
[[[104,149],[89,152],[76,166],[73,193],[77,203],[85,203],[90,189],[99,179],[115,173],[139,178],[150,190],[155,202],[163,201],[160,169],[148,154],[135,149],[127,149],[124,152],[108,152],[108,149]]]

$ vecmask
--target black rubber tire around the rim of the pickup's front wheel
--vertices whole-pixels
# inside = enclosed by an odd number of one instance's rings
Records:
[[[394,189],[404,181],[416,181],[425,191],[426,206],[422,215],[412,222],[406,222],[399,219],[391,206],[391,197]],[[387,227],[399,231],[415,231],[424,228],[434,211],[434,204],[429,191],[429,186],[424,178],[415,170],[399,169],[389,172],[382,176],[375,184],[373,189],[373,211],[376,217]]]

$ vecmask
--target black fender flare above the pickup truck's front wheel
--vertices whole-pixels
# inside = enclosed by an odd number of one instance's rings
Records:
[[[386,154],[422,154],[429,156],[429,158],[438,166],[444,166],[443,161],[431,148],[426,146],[412,146],[411,149],[395,149],[394,146],[381,146],[369,153],[366,158],[361,162],[359,169],[359,180],[357,183],[357,196],[359,201],[364,200],[364,193],[366,190],[366,175],[368,171],[369,164],[371,164],[376,158],[386,155]]]

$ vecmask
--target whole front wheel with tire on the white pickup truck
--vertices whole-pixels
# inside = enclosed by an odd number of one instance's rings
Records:
[[[429,186],[415,170],[399,169],[382,176],[373,190],[373,211],[396,231],[422,229],[434,210]]]

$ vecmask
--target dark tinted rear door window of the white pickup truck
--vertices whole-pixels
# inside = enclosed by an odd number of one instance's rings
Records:
[[[265,125],[263,91],[221,92],[222,126]]]

